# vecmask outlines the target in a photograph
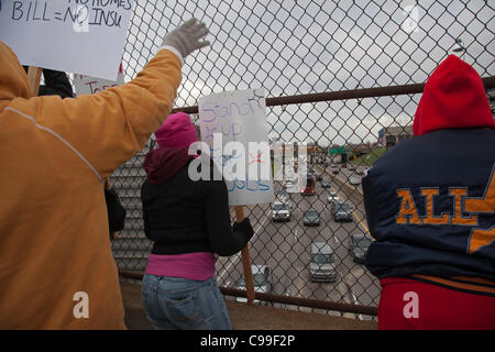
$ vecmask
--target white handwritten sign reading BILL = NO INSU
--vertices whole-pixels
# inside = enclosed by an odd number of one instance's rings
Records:
[[[0,0],[0,41],[22,65],[117,79],[133,0]]]

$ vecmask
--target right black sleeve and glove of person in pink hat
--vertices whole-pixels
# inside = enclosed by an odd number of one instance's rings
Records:
[[[254,234],[249,218],[230,226],[229,196],[223,180],[210,180],[206,195],[205,216],[211,249],[220,256],[242,250]]]

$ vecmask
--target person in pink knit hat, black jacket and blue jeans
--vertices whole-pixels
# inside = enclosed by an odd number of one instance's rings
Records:
[[[155,329],[230,330],[213,278],[217,255],[229,256],[253,237],[249,218],[231,227],[224,180],[191,180],[189,145],[198,141],[188,114],[170,114],[155,132],[141,187],[146,237],[153,241],[142,299]]]

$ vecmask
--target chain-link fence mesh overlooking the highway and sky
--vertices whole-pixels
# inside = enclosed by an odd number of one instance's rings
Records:
[[[157,52],[165,33],[191,16],[207,23],[211,46],[187,57],[177,108],[196,106],[200,96],[248,88],[264,88],[270,98],[422,84],[452,53],[482,77],[495,75],[495,10],[490,1],[135,0],[123,55],[125,79],[135,77]],[[411,135],[419,98],[411,94],[267,107],[271,140],[314,145],[309,165],[322,177],[314,196],[288,195],[290,221],[274,222],[272,205],[246,208],[256,233],[251,261],[270,268],[270,293],[377,306],[377,279],[354,261],[359,255],[349,248],[354,234],[370,237],[361,177],[387,147]],[[191,117],[197,121],[197,114]],[[112,243],[122,271],[144,272],[152,246],[144,235],[140,199],[145,177],[141,165],[152,144],[111,177],[128,209],[125,229]],[[283,187],[275,182],[275,194]],[[351,206],[351,221],[336,221],[330,190]],[[320,216],[318,227],[304,224],[309,208]],[[312,280],[314,242],[332,248],[334,282]],[[242,287],[241,276],[240,255],[218,260],[220,286]]]

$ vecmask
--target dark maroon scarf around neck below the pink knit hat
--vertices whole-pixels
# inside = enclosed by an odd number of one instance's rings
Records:
[[[158,147],[146,154],[143,168],[152,184],[163,184],[175,176],[193,158],[194,155],[188,154],[188,148]]]

